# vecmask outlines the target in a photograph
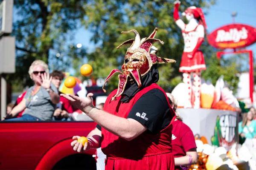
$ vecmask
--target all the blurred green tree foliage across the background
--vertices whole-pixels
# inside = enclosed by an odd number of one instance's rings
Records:
[[[148,37],[155,27],[157,37],[164,45],[155,43],[160,57],[176,59],[176,64],[161,65],[159,84],[171,91],[179,82],[178,72],[183,51],[183,38],[176,26],[173,15],[173,0],[15,0],[15,21],[13,34],[16,37],[16,73],[9,81],[16,87],[30,85],[27,71],[35,59],[49,63],[51,70],[67,71],[72,67],[79,76],[79,67],[88,61],[93,66],[93,77],[105,78],[113,68],[120,68],[127,48],[116,49],[134,34],[121,34],[121,31],[136,29],[141,37]],[[189,6],[207,8],[214,0],[182,0],[180,11]],[[86,48],[76,48],[69,44],[76,30],[84,27],[92,33],[91,42],[97,44],[92,52]],[[202,45],[207,60],[207,71],[203,77],[216,80],[214,51],[207,42]],[[58,52],[60,57],[56,57]],[[211,59],[212,58],[212,59]],[[221,69],[219,66],[218,69]],[[231,69],[231,68],[230,68]],[[209,70],[209,71],[208,71]],[[230,71],[233,71],[232,69]],[[220,72],[218,72],[219,74]],[[212,75],[216,74],[216,78]],[[226,75],[226,74],[225,74]],[[109,91],[118,81],[109,82]],[[227,78],[233,81],[232,77]],[[234,85],[235,87],[235,85]]]

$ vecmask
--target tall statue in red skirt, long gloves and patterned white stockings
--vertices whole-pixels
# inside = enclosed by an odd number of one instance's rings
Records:
[[[179,71],[183,73],[183,82],[188,94],[184,96],[184,100],[186,100],[184,108],[200,108],[201,70],[206,70],[204,55],[199,50],[204,41],[204,29],[207,28],[204,13],[201,8],[195,6],[187,8],[182,13],[188,20],[188,23],[185,24],[178,14],[180,1],[176,0],[174,4],[173,17],[177,26],[180,27],[184,39],[184,50],[179,68]],[[191,79],[193,79],[193,85]]]

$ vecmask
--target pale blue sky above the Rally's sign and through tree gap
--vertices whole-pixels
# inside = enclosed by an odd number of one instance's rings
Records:
[[[216,0],[214,6],[203,10],[207,14],[205,17],[209,33],[223,25],[233,23],[231,14],[234,11],[237,12],[236,23],[256,27],[256,0]],[[89,51],[93,51],[94,45],[90,44],[90,37],[89,31],[80,28],[76,33],[74,43],[81,43],[88,47]],[[247,49],[253,50],[256,56],[256,43],[248,46]]]

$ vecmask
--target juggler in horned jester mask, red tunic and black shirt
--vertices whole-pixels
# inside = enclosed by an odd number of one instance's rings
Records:
[[[136,30],[123,33],[129,32],[135,39],[117,47],[131,44],[122,71],[112,70],[105,80],[119,73],[118,89],[109,94],[103,111],[93,106],[91,93],[85,99],[61,94],[98,124],[87,135],[88,143],[83,146],[77,141],[80,136],[73,136],[71,146],[78,152],[101,146],[107,155],[105,170],[173,170],[171,129],[175,112],[165,91],[156,84],[159,73],[155,64],[175,60],[156,55],[153,43],[163,44],[154,38],[157,28],[143,39]]]

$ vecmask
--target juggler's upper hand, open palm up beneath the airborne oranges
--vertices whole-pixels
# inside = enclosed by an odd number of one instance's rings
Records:
[[[75,96],[72,94],[61,94],[61,96],[68,99],[74,107],[80,109],[84,113],[89,113],[90,110],[94,108],[93,100],[92,100],[92,93],[87,94],[86,98],[81,98],[79,96]]]

